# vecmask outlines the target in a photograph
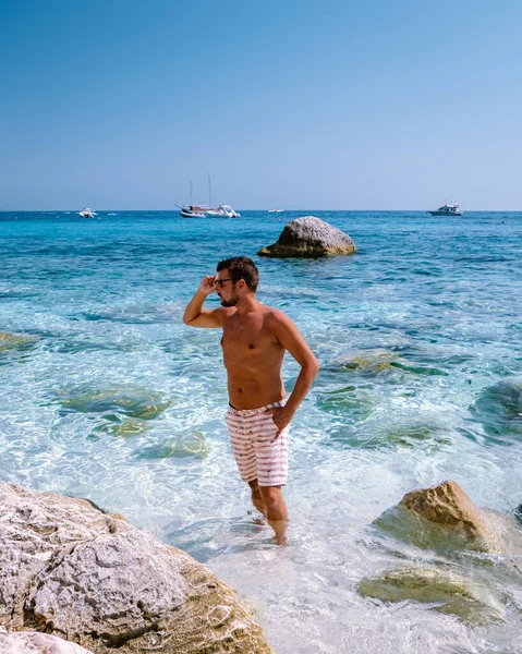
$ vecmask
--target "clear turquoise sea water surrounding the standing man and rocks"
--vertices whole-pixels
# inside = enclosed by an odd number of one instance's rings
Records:
[[[522,502],[522,214],[314,211],[359,247],[318,261],[256,257],[302,211],[111,214],[0,214],[0,332],[15,335],[0,339],[0,477],[89,497],[187,550],[256,608],[278,654],[522,651],[522,576],[371,525],[445,479],[483,508]],[[220,334],[181,320],[238,254],[321,365],[293,423],[286,549],[247,513]],[[290,387],[296,373],[287,361]],[[478,578],[503,622],[356,592],[424,561]]]

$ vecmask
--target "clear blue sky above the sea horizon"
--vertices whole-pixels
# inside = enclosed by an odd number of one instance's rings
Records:
[[[520,0],[0,0],[0,208],[522,209]]]

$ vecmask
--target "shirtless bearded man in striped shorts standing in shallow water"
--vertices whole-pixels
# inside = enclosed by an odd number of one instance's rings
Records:
[[[319,366],[292,320],[257,300],[259,272],[252,259],[236,256],[222,261],[217,272],[203,278],[183,322],[223,330],[230,402],[227,425],[235,462],[241,479],[251,487],[254,506],[267,518],[276,542],[284,544],[288,512],[281,486],[288,476],[288,427]],[[203,308],[214,292],[221,306]],[[288,399],[281,378],[287,350],[301,365]]]

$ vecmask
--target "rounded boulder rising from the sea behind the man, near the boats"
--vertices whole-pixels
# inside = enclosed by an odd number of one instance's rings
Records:
[[[315,216],[304,216],[287,222],[278,241],[263,247],[257,254],[275,257],[318,257],[354,252],[355,243],[343,231]]]

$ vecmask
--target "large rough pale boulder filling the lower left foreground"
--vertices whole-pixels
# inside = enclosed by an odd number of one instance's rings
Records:
[[[0,483],[0,625],[96,654],[269,654],[210,570],[90,502]]]

